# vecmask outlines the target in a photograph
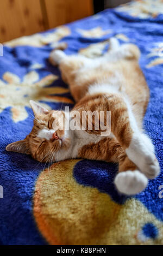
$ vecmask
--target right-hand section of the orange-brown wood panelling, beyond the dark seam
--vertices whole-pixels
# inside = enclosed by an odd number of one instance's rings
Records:
[[[92,0],[45,0],[45,5],[49,28],[93,14]]]

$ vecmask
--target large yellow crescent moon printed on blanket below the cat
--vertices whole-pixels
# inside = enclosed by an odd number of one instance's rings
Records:
[[[73,168],[79,159],[54,163],[35,185],[34,217],[51,245],[152,245],[163,243],[163,225],[137,199],[117,204],[97,188],[77,183]],[[158,235],[142,227],[154,223]]]

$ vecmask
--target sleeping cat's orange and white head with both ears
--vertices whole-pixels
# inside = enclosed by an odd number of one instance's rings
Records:
[[[64,111],[47,110],[30,100],[34,112],[34,126],[26,139],[13,142],[7,151],[31,154],[40,162],[54,162],[68,157],[72,143],[71,130],[66,129],[69,122]]]

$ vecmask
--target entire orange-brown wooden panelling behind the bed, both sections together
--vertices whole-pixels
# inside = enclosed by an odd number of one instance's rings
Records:
[[[92,0],[0,0],[0,43],[91,14]]]

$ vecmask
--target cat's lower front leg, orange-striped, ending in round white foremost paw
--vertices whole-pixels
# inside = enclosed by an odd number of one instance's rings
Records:
[[[86,144],[86,141],[91,139],[91,134],[83,133],[87,136],[85,137],[87,139],[83,140],[84,144]],[[76,144],[73,150],[73,157],[75,158],[118,163],[118,174],[115,177],[114,183],[118,191],[123,194],[134,195],[140,193],[148,184],[147,177],[142,174],[137,166],[127,157],[126,152],[122,149],[116,138],[106,137],[96,143],[90,144],[87,142],[83,147],[81,147],[81,144]]]

